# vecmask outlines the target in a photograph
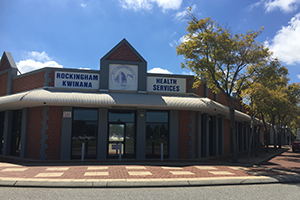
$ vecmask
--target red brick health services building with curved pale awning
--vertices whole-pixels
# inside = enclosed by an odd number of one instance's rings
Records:
[[[99,70],[43,68],[18,75],[9,52],[0,62],[0,150],[38,160],[196,159],[230,153],[227,102],[193,76],[147,73],[122,40]],[[250,117],[236,108],[238,150],[246,151]],[[259,132],[254,145],[263,141]],[[121,145],[120,145],[121,144]]]

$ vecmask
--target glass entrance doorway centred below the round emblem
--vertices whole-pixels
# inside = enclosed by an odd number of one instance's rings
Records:
[[[108,157],[135,157],[135,113],[109,112]]]

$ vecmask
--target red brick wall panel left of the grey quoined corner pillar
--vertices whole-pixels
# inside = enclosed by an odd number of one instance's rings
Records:
[[[43,107],[29,108],[26,157],[40,159]]]

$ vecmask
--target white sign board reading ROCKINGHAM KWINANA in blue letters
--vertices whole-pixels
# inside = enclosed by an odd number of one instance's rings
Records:
[[[55,72],[54,87],[76,89],[99,89],[99,74],[78,72]]]

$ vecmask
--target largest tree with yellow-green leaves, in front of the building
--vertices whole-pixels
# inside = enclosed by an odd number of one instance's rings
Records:
[[[176,47],[177,55],[184,56],[182,68],[196,74],[193,87],[205,82],[213,92],[225,95],[230,112],[232,159],[237,162],[235,102],[231,96],[233,93],[239,95],[242,86],[252,76],[245,69],[259,67],[270,52],[255,41],[262,30],[232,34],[211,18],[198,20],[191,8],[188,10],[188,33],[185,41]]]

